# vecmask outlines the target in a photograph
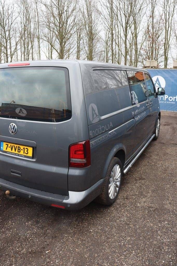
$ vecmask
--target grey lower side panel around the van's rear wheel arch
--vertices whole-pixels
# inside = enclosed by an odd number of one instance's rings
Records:
[[[123,113],[119,115],[124,117]],[[111,118],[109,118],[109,123],[111,123]],[[133,141],[134,119],[132,118],[111,128],[103,136],[97,136],[91,140],[91,184],[106,176],[110,161],[117,151],[123,149],[125,158],[132,155]]]

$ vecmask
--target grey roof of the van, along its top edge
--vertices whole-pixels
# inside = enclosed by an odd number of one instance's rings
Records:
[[[57,62],[65,62],[65,63],[74,63],[78,62],[82,65],[90,65],[91,67],[110,67],[110,68],[123,68],[123,69],[132,69],[132,70],[141,70],[142,68],[132,67],[132,66],[125,66],[125,65],[119,65],[119,64],[112,64],[112,63],[104,63],[104,62],[98,62],[98,61],[89,61],[89,60],[77,60],[77,59],[52,59],[52,60],[28,60],[28,61],[18,61],[18,62],[11,62],[11,63],[2,63],[0,64],[0,68],[6,68],[9,67],[9,64],[20,64],[20,63],[30,63],[31,66],[43,66],[44,63],[46,65],[51,65],[51,62],[54,62],[55,65]],[[28,65],[27,65],[28,66]],[[144,71],[147,71],[146,69],[143,69]],[[147,71],[148,72],[148,71]]]

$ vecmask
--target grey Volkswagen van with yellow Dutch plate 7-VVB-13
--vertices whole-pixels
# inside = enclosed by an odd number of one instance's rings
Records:
[[[76,210],[111,205],[161,112],[146,70],[77,60],[0,65],[0,189]]]

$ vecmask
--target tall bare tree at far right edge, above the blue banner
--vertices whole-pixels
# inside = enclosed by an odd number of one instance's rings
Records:
[[[169,51],[171,45],[172,26],[174,23],[174,14],[177,8],[177,0],[163,0],[163,25],[165,28],[165,39],[164,39],[164,68],[167,68]]]

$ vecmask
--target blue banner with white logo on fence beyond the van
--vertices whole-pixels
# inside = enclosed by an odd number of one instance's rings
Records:
[[[155,88],[165,88],[165,95],[159,96],[160,108],[177,112],[177,69],[148,69]]]

